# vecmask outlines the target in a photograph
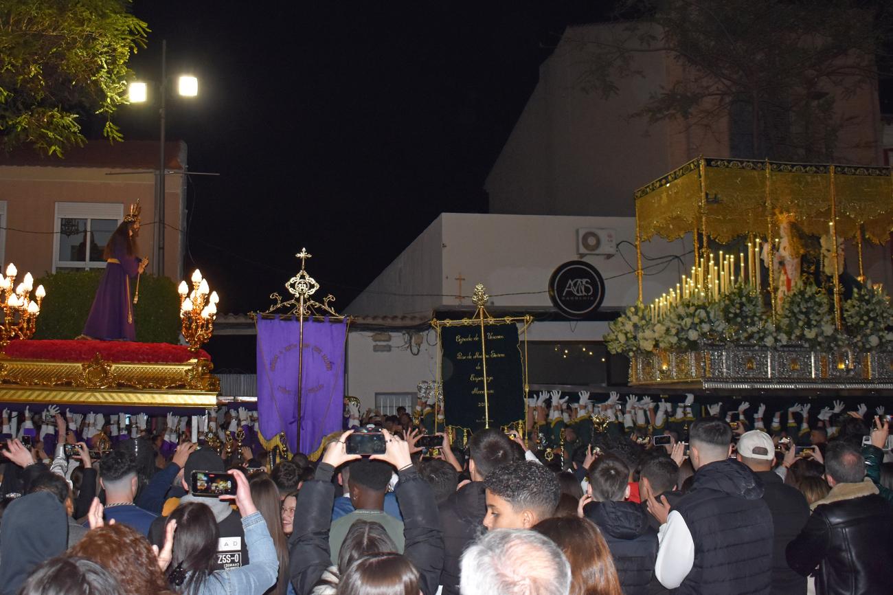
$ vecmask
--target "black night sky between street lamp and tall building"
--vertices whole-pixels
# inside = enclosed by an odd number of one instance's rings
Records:
[[[569,23],[597,2],[138,0],[152,29],[131,60],[199,78],[168,102],[188,144],[185,267],[221,312],[265,309],[308,268],[343,309],[442,212],[485,213],[483,182]],[[123,106],[125,138],[157,139],[157,109]],[[125,140],[126,142],[126,140]],[[174,222],[176,223],[176,222]],[[399,288],[393,288],[399,290]]]

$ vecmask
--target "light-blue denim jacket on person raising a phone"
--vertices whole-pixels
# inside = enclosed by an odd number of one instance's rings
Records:
[[[199,595],[262,595],[276,584],[279,557],[270,531],[261,513],[242,518],[248,546],[248,564],[230,570],[218,570],[208,576]]]

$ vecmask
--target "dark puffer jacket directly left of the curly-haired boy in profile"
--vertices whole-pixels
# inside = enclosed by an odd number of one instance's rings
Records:
[[[440,505],[440,531],[444,536],[443,595],[459,595],[459,561],[468,544],[484,531],[487,502],[484,482],[472,482]]]

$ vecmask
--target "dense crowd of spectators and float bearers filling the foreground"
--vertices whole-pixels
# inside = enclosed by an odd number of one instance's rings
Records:
[[[4,411],[0,595],[893,592],[881,407],[810,423],[785,403],[764,424],[746,402],[625,400],[542,393],[526,421],[434,443],[433,404],[351,405],[318,453],[275,465],[172,414],[110,415],[96,452],[99,414]],[[352,454],[359,432],[383,450]]]

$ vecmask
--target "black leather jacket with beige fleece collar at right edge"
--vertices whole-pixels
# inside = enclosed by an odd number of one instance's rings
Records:
[[[893,507],[871,480],[840,483],[816,504],[788,544],[789,566],[804,576],[815,571],[815,592],[822,595],[891,592]]]

